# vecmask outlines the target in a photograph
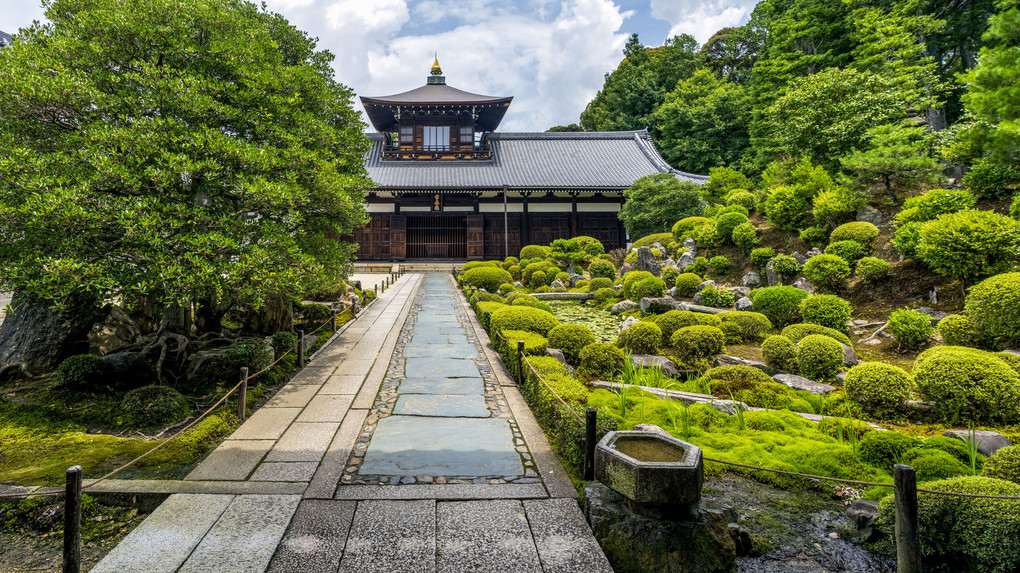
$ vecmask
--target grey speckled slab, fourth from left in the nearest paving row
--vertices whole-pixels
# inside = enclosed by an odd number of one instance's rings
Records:
[[[436,571],[436,502],[371,501],[358,504],[339,571]]]

